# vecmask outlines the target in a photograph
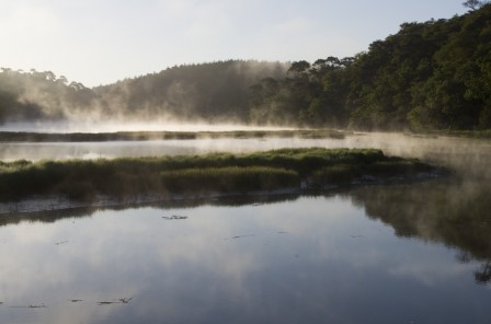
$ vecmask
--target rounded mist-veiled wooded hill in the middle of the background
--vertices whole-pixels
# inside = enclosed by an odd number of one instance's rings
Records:
[[[189,65],[94,91],[105,109],[142,120],[246,123],[251,85],[269,77],[283,79],[287,69],[287,63],[252,60]]]

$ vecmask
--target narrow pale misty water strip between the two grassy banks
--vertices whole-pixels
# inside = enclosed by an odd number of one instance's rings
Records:
[[[19,159],[93,159],[117,157],[149,157],[199,154],[208,152],[251,152],[279,148],[379,148],[387,154],[424,158],[441,161],[448,154],[466,163],[468,157],[489,159],[491,143],[467,139],[415,138],[397,134],[346,136],[344,139],[197,139],[110,142],[39,142],[0,143],[0,160]]]

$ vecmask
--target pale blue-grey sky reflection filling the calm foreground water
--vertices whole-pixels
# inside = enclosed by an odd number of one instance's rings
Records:
[[[490,323],[456,254],[340,197],[22,222],[0,228],[0,323]]]

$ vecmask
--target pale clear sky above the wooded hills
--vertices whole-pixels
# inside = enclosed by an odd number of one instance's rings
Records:
[[[183,63],[347,57],[464,0],[0,0],[0,67],[85,86]]]

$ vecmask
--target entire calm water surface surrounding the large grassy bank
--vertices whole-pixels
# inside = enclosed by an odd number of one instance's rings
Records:
[[[22,143],[0,157],[310,146],[381,148],[454,172],[310,196],[0,215],[0,323],[491,323],[490,141]]]

